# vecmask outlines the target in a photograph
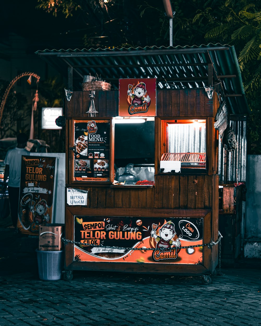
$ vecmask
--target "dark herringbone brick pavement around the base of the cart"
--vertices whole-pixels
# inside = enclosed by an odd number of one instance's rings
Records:
[[[38,277],[37,237],[0,228],[0,326],[261,325],[261,260],[200,276],[73,272]]]

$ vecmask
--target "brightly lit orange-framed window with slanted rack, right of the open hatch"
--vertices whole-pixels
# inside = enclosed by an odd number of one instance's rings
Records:
[[[206,169],[206,119],[161,120],[160,172]]]

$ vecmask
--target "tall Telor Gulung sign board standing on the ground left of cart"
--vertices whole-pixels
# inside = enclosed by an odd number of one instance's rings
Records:
[[[36,234],[52,223],[55,157],[22,156],[17,228]]]

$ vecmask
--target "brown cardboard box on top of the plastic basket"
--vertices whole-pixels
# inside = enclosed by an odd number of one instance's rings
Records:
[[[62,250],[64,224],[50,223],[39,226],[39,250]]]

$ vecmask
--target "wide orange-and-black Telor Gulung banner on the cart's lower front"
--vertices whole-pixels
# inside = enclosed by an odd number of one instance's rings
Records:
[[[203,264],[202,217],[74,216],[74,241],[74,261]]]

